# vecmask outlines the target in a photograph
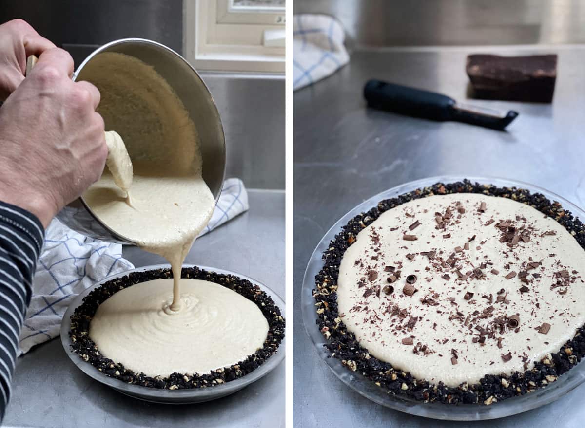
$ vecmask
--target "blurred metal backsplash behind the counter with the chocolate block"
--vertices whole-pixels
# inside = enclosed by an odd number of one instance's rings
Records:
[[[585,42],[581,0],[295,0],[338,18],[358,46]]]

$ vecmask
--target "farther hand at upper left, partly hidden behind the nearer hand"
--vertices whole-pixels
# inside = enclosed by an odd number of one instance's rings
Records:
[[[0,25],[0,100],[8,98],[25,79],[29,55],[39,56],[54,47],[22,19]]]

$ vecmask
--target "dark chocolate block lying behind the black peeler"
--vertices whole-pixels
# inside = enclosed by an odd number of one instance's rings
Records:
[[[552,102],[556,55],[501,57],[467,56],[466,71],[473,98]]]

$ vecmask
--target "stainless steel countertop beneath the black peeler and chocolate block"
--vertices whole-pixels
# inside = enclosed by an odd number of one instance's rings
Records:
[[[429,122],[365,107],[362,88],[380,78],[466,98],[469,53],[558,53],[552,105],[473,101],[520,115],[498,132]],[[364,199],[433,175],[492,175],[542,186],[585,205],[585,46],[386,49],[356,51],[326,80],[294,94],[294,426],[462,427],[386,409],[356,394],[319,359],[302,326],[300,288],[307,261],[325,232]],[[472,103],[470,101],[470,103]],[[585,385],[521,415],[474,427],[581,427]]]

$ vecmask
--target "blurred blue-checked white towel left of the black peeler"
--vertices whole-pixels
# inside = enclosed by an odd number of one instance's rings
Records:
[[[349,62],[341,24],[328,15],[292,17],[292,89],[312,85]]]

